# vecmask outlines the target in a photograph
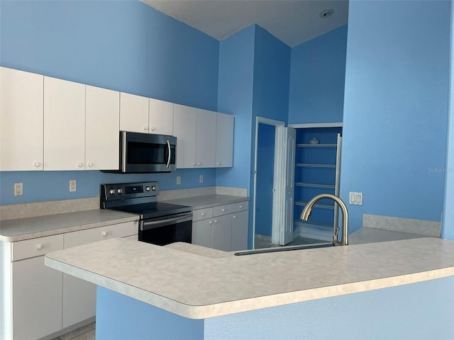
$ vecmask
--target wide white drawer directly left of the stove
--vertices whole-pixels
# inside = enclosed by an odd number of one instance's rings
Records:
[[[118,223],[117,225],[105,225],[92,229],[79,230],[77,232],[68,232],[65,234],[65,249],[72,246],[80,246],[103,239],[113,237],[126,237],[138,233],[138,222]]]

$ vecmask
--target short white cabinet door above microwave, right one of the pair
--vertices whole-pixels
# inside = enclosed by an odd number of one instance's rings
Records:
[[[148,117],[150,133],[173,135],[173,103],[150,98]]]

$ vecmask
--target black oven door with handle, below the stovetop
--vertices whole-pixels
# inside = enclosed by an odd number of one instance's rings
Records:
[[[174,242],[192,242],[192,212],[141,220],[139,241],[163,246]]]

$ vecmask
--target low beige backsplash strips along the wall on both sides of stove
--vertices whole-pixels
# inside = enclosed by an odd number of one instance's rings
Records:
[[[248,190],[245,188],[230,188],[226,186],[206,186],[204,188],[160,191],[159,196],[157,197],[158,200],[175,200],[178,198],[215,194],[247,197]],[[54,215],[98,208],[99,196],[72,200],[50,200],[46,202],[0,205],[0,220]]]

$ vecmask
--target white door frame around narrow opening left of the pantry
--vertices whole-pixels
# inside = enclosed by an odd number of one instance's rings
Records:
[[[258,162],[258,125],[267,124],[275,126],[275,171],[273,178],[273,195],[272,195],[272,236],[271,242],[279,244],[279,232],[281,228],[281,221],[284,217],[284,169],[282,167],[283,154],[276,152],[282,150],[284,147],[284,126],[285,123],[279,120],[272,120],[264,117],[257,117],[255,119],[255,155],[254,155],[254,201],[253,201],[253,248],[255,248],[255,208],[257,201],[257,162]]]

